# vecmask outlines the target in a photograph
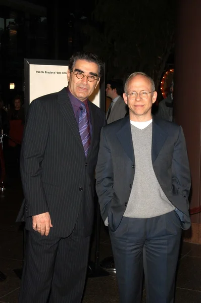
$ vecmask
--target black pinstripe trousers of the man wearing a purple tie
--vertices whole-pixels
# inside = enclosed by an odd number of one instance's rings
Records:
[[[81,302],[90,243],[82,217],[67,238],[28,232],[19,303]]]

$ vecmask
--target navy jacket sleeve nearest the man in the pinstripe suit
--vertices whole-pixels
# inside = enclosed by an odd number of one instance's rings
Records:
[[[96,192],[100,205],[100,214],[105,222],[108,217],[108,210],[113,197],[113,161],[104,128],[102,128],[100,133],[100,145],[95,171]]]

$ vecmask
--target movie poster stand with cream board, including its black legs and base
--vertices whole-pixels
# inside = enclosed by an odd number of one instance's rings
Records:
[[[24,59],[24,106],[25,124],[29,105],[32,100],[53,92],[60,91],[68,85],[67,70],[69,61]],[[105,112],[105,64],[100,82],[89,100]],[[88,277],[106,276],[108,273],[99,266],[99,242],[100,242],[100,211],[97,196],[94,200],[94,261],[88,264]],[[25,258],[26,230],[23,224],[23,263]],[[21,278],[22,269],[15,269],[16,275]]]

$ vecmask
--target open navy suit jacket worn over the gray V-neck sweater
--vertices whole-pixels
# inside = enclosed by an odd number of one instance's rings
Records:
[[[181,227],[190,227],[188,195],[190,170],[181,126],[153,117],[152,163],[164,193],[175,206]],[[96,165],[100,212],[112,231],[119,226],[135,175],[129,116],[102,129]]]

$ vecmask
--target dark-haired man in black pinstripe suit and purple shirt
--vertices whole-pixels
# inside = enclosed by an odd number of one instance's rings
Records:
[[[21,150],[28,230],[19,303],[79,303],[93,226],[94,169],[105,114],[88,101],[100,80],[91,53],[70,59],[68,87],[30,105]],[[87,150],[79,130],[85,108]],[[85,140],[86,141],[86,140]]]

